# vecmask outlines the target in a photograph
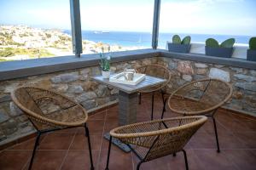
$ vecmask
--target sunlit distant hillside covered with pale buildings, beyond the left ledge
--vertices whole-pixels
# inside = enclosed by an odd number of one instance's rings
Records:
[[[108,44],[83,40],[83,53],[93,54],[108,49]],[[110,46],[111,51],[124,50]],[[61,30],[28,26],[0,26],[0,61],[36,59],[73,54],[72,37]]]

